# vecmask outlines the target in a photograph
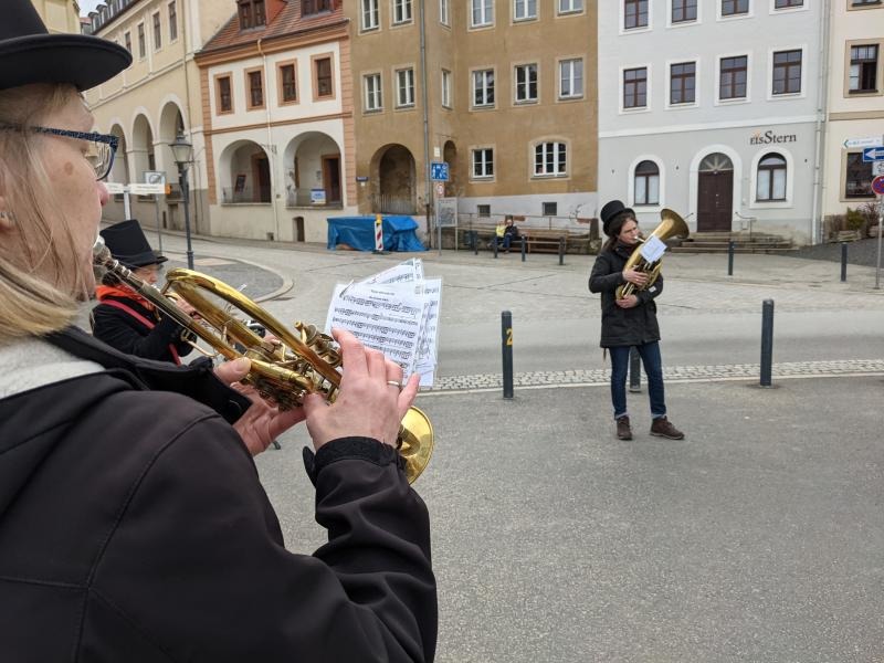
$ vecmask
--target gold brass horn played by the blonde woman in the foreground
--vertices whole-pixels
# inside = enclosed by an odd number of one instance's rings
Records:
[[[252,367],[243,382],[280,409],[299,406],[307,393],[320,393],[329,402],[337,398],[340,352],[335,340],[313,325],[295,323],[294,329],[290,329],[240,291],[192,270],[169,271],[160,291],[115,260],[101,236],[93,254],[97,266],[113,272],[165,315],[209,344],[217,354],[229,360],[250,359]],[[200,320],[181,311],[170,297],[190,304]],[[232,314],[233,308],[262,325],[276,340],[259,336]],[[409,408],[399,427],[399,453],[404,460],[409,483],[413,483],[429,464],[433,443],[430,419],[420,409]]]

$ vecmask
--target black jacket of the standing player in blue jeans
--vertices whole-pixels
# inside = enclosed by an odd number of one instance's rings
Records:
[[[592,265],[589,291],[601,293],[601,341],[603,348],[638,346],[660,340],[654,298],[663,292],[663,274],[644,291],[636,291],[639,305],[620,308],[614,302],[617,288],[625,283],[623,267],[633,249],[617,243],[612,250],[602,250]]]

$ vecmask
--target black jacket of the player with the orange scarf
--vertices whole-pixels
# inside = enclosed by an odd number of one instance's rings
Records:
[[[107,304],[107,301],[124,304],[154,323],[155,327],[149,328],[128,312]],[[146,308],[136,299],[108,296],[92,309],[92,333],[96,338],[128,355],[175,362],[169,345],[175,347],[179,357],[193,350],[190,344],[181,339],[185,329],[178,323]]]

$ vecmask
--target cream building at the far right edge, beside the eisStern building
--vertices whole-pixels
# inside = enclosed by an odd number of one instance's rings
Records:
[[[863,146],[884,146],[884,4],[830,0],[830,67],[822,210],[844,214],[875,200]]]

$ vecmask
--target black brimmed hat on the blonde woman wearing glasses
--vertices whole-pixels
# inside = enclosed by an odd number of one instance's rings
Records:
[[[131,64],[112,41],[85,34],[50,34],[31,0],[3,0],[0,20],[0,90],[29,83],[71,83],[88,90]]]

